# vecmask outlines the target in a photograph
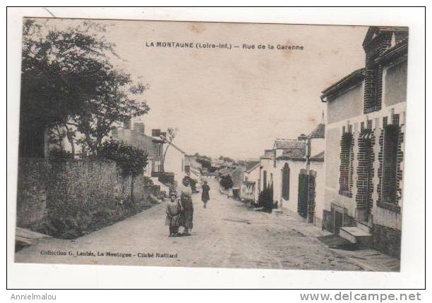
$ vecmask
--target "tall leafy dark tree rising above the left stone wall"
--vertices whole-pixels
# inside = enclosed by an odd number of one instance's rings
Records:
[[[96,153],[116,124],[149,111],[134,99],[147,86],[114,68],[115,44],[104,32],[87,21],[59,30],[25,20],[20,137],[61,127],[73,152],[77,142]]]

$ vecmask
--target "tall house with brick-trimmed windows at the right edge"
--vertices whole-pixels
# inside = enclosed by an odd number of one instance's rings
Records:
[[[407,27],[369,27],[365,67],[323,91],[323,228],[400,256]]]

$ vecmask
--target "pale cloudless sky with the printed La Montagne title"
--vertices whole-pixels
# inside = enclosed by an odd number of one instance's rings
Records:
[[[73,25],[81,20],[50,20]],[[187,154],[257,158],[276,138],[296,138],[322,121],[320,92],[364,66],[368,27],[102,21],[115,65],[148,84],[145,132],[179,129]],[[61,25],[62,24],[62,25]],[[172,49],[150,42],[228,43],[239,48]],[[255,49],[243,49],[255,44]],[[258,49],[263,44],[266,49]],[[268,44],[275,49],[268,49]],[[304,50],[278,50],[299,45]]]

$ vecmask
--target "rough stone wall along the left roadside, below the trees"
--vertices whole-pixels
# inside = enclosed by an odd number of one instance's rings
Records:
[[[123,178],[108,161],[20,159],[17,225],[74,238],[121,221],[151,205],[155,194],[140,175]]]

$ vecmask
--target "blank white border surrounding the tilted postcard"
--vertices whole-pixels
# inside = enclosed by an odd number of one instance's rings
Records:
[[[424,11],[422,8],[49,8],[59,18],[194,20],[253,23],[409,26],[406,171],[400,273],[288,271],[147,266],[14,264],[20,39],[23,16],[43,8],[8,9],[7,204],[10,288],[422,288],[424,225]],[[5,54],[6,55],[6,54]],[[318,99],[318,96],[317,96]],[[4,180],[6,181],[6,180]],[[6,182],[4,182],[6,184]],[[4,235],[3,235],[4,237]],[[6,239],[3,239],[3,245]],[[3,249],[6,252],[6,247]],[[120,278],[121,277],[121,278]]]

